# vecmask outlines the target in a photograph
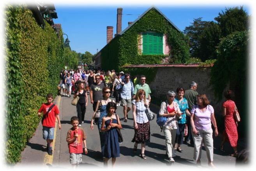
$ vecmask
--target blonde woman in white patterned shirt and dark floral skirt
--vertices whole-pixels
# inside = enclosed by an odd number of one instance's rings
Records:
[[[146,141],[150,140],[150,125],[147,115],[145,113],[148,108],[148,99],[145,97],[145,91],[139,89],[132,100],[132,113],[134,120],[134,137],[132,142],[135,142],[133,151],[137,152],[137,146],[141,143],[141,158],[146,159],[145,146]]]

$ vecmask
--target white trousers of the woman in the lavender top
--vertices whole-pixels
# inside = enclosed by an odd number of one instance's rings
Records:
[[[213,138],[212,128],[208,130],[198,130],[199,136],[192,133],[194,139],[194,160],[201,159],[202,145],[204,144],[209,162],[213,161]]]

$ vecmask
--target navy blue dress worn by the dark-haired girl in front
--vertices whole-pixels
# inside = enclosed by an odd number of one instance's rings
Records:
[[[106,120],[105,125],[108,127],[110,119]],[[116,119],[112,119],[112,123],[117,123]],[[102,155],[110,159],[111,157],[120,157],[120,147],[118,143],[117,127],[111,127],[105,132],[105,141],[102,148]]]

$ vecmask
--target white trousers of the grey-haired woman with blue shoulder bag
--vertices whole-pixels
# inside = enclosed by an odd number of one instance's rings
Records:
[[[164,131],[165,136],[165,145],[166,145],[166,152],[169,157],[175,157],[174,153],[174,143],[175,143],[175,137],[177,129],[167,129],[166,127],[162,127],[162,130]]]

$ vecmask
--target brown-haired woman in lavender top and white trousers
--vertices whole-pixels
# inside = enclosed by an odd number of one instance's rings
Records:
[[[208,158],[208,166],[214,167],[213,162],[213,139],[212,124],[214,125],[215,137],[218,136],[218,129],[214,117],[214,109],[205,94],[197,95],[197,105],[191,110],[191,127],[194,139],[194,159],[196,164],[201,165],[201,150],[204,143]]]

